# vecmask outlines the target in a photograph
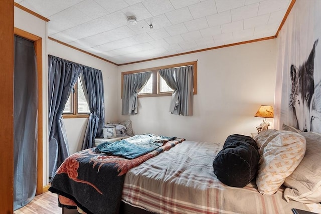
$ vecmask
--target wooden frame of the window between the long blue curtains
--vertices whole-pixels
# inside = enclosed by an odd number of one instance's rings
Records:
[[[79,78],[79,77],[78,77]],[[63,118],[87,118],[89,117],[90,113],[78,113],[78,79],[75,83],[72,91],[70,92],[71,97],[71,109],[72,112],[70,113],[63,113]]]

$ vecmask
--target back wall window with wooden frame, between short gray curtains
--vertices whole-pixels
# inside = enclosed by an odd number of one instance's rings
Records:
[[[152,74],[147,81],[144,88],[138,93],[138,97],[156,97],[156,96],[172,96],[173,89],[171,89],[165,80],[159,75],[159,69],[166,69],[166,68],[175,68],[175,67],[182,67],[182,66],[190,66],[193,65],[194,67],[194,94],[197,94],[197,61],[188,62],[188,63],[181,63],[169,66],[162,66],[162,67],[155,67],[149,69],[143,69],[138,71],[129,71],[129,72],[122,72],[121,73],[121,90],[123,85],[123,75],[126,74],[133,74],[139,72],[146,72],[151,71]],[[122,93],[121,93],[122,94]]]

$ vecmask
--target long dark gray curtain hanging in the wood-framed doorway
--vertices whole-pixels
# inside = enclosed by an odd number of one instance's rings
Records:
[[[36,194],[37,115],[38,82],[34,43],[15,36],[14,210],[29,203]]]

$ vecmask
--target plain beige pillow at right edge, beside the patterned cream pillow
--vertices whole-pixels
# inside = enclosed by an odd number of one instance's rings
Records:
[[[302,203],[321,202],[321,134],[302,132],[306,139],[305,155],[284,185],[284,198]]]

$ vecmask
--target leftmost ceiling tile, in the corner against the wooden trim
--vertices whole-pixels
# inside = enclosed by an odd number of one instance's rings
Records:
[[[60,11],[72,7],[82,0],[25,0],[20,4],[43,17],[50,17]]]

